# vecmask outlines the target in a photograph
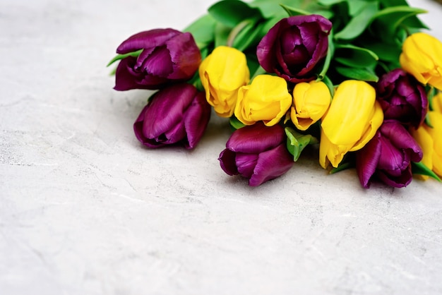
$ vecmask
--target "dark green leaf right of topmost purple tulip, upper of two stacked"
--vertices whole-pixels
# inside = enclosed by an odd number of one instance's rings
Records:
[[[335,51],[335,61],[351,68],[374,68],[378,56],[369,49],[352,44],[338,44]]]

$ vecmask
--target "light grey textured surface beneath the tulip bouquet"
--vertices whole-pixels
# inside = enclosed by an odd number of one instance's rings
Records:
[[[410,2],[442,40],[441,6]],[[112,90],[107,61],[212,3],[0,1],[0,294],[441,294],[441,183],[301,159],[250,188],[215,116],[191,152],[138,143],[148,92]]]

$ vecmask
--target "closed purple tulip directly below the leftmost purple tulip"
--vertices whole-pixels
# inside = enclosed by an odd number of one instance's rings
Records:
[[[174,84],[155,93],[133,124],[133,131],[149,148],[179,144],[191,149],[203,136],[210,112],[204,92],[190,84]]]

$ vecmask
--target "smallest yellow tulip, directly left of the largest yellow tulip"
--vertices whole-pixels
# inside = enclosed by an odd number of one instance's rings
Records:
[[[294,86],[290,118],[299,130],[307,130],[327,112],[331,95],[327,85],[320,82],[302,82]]]

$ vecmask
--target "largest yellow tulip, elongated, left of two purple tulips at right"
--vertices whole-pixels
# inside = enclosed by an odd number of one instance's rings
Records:
[[[335,92],[321,122],[319,163],[338,167],[347,152],[360,150],[383,122],[374,88],[364,81],[347,80]]]

